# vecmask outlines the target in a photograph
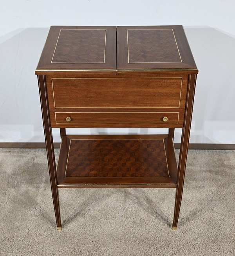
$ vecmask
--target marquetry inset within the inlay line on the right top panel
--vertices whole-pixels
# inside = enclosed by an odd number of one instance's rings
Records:
[[[172,29],[128,29],[129,63],[181,62]]]

